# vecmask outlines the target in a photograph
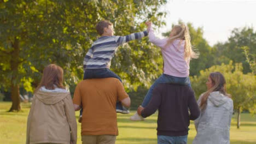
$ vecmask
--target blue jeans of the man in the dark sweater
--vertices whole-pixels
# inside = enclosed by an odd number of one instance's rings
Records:
[[[165,136],[158,135],[158,144],[187,144],[188,135],[184,136]]]

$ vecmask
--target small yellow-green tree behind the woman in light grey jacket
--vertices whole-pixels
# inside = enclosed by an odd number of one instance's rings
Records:
[[[199,76],[191,77],[191,85],[196,93],[196,97],[206,92],[206,81],[210,73],[219,71],[226,79],[226,89],[232,95],[234,109],[238,113],[237,128],[240,127],[240,113],[243,109],[255,113],[256,106],[256,77],[252,73],[243,74],[242,63],[214,65],[209,69],[201,70]]]

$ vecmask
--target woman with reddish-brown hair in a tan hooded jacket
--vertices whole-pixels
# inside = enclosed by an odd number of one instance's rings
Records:
[[[77,143],[77,122],[70,93],[62,85],[63,70],[44,68],[27,118],[27,144]]]

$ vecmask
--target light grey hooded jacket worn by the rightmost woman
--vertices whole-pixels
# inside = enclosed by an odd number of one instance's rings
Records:
[[[201,103],[200,95],[197,104]],[[228,144],[230,122],[233,113],[233,101],[220,92],[211,92],[206,109],[201,111],[199,118],[195,120],[197,131],[193,144]]]

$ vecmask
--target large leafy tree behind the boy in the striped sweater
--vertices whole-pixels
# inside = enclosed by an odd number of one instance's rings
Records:
[[[45,65],[56,63],[65,71],[66,85],[83,77],[83,57],[96,40],[95,25],[108,19],[117,35],[144,31],[142,20],[155,25],[165,23],[160,1],[1,1],[0,56],[1,87],[11,89],[13,104],[19,111],[19,87],[32,91],[38,85]],[[112,69],[127,89],[148,85],[160,74],[160,51],[147,38],[121,46]],[[150,62],[150,63],[149,63]]]

